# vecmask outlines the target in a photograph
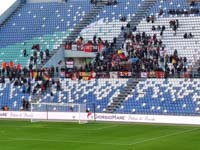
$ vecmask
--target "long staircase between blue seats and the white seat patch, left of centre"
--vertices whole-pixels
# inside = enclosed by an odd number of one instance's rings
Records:
[[[57,51],[60,49],[60,47],[63,47],[64,44],[66,43],[66,41],[75,41],[76,38],[80,35],[80,32],[87,26],[89,25],[92,20],[102,11],[103,7],[105,6],[104,3],[97,3],[97,5],[95,5],[90,12],[86,13],[86,15],[82,18],[82,20],[73,28],[73,30],[71,31],[71,33],[69,34],[68,37],[66,37],[65,39],[63,39],[62,44],[57,48],[54,49],[52,51],[52,54],[50,54],[50,56],[52,57],[54,54],[57,53]],[[46,64],[51,57],[49,57],[48,59],[46,59],[44,61],[43,64]],[[39,66],[39,67],[42,67]]]

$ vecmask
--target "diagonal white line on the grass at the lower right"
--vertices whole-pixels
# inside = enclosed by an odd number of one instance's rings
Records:
[[[200,128],[195,128],[195,129],[186,130],[186,131],[182,131],[182,132],[175,132],[175,133],[171,133],[171,134],[167,134],[167,135],[149,138],[149,139],[146,139],[146,140],[141,140],[141,141],[138,141],[138,142],[133,142],[129,145],[132,146],[132,145],[141,144],[141,143],[145,143],[145,142],[149,142],[149,141],[156,141],[156,140],[161,139],[161,138],[166,138],[166,137],[175,136],[175,135],[181,135],[181,134],[189,133],[189,132],[196,131],[196,130],[199,130],[199,129]]]

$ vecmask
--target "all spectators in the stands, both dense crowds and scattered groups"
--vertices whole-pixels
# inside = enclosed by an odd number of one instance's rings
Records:
[[[91,0],[91,3],[96,4],[98,0]],[[109,0],[108,5],[117,4],[116,0]],[[195,3],[191,3],[194,6]],[[159,15],[164,12],[161,9]],[[198,14],[198,8],[171,9],[168,12],[172,15],[180,14]],[[126,17],[122,16],[121,21],[126,21]],[[154,24],[156,18],[154,15],[148,16],[146,21]],[[178,20],[170,20],[170,28],[176,35],[179,28]],[[126,28],[126,30],[125,30]],[[152,31],[160,31],[162,37],[166,30],[165,25],[152,25]],[[73,67],[72,69],[61,69],[61,72],[112,72],[112,71],[128,71],[139,77],[141,72],[161,71],[165,72],[165,77],[174,76],[177,74],[180,77],[181,72],[189,71],[187,66],[187,58],[179,57],[178,51],[175,49],[171,55],[167,54],[167,50],[163,45],[162,39],[156,34],[149,35],[145,32],[137,31],[137,27],[132,27],[129,23],[122,26],[124,32],[124,43],[121,48],[116,49],[117,39],[113,38],[112,42],[103,41],[101,37],[94,35],[91,41],[84,41],[83,37],[79,37],[77,41],[67,41],[65,47],[71,49],[73,44],[78,46],[78,49],[86,52],[97,52],[95,59],[85,66],[80,68]],[[183,38],[193,38],[192,33],[185,33]],[[5,84],[5,77],[8,77],[14,86],[21,86],[23,93],[31,95],[43,95],[49,93],[54,96],[54,88],[56,91],[62,90],[59,80],[55,80],[55,76],[59,76],[59,68],[36,68],[38,64],[44,64],[44,61],[50,57],[49,49],[45,51],[40,49],[40,45],[36,44],[32,47],[32,55],[29,56],[27,50],[23,50],[24,57],[30,57],[28,67],[22,67],[21,64],[14,64],[13,61],[3,62],[0,69],[1,83]],[[200,67],[197,69],[200,74]],[[30,103],[28,100],[22,99],[22,110],[28,110]],[[2,107],[4,111],[8,111],[8,106]]]

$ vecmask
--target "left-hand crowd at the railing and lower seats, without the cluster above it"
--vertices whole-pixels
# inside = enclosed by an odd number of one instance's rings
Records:
[[[3,62],[2,66],[5,64]],[[6,63],[7,64],[7,63]],[[4,87],[6,83],[6,77],[9,78],[7,82],[13,84],[14,87],[21,87],[22,93],[30,94],[32,96],[43,95],[44,93],[49,93],[53,96],[53,88],[59,91],[61,90],[61,83],[59,80],[55,80],[54,77],[59,77],[58,68],[40,68],[29,70],[24,67],[23,69],[17,70],[15,67],[10,68],[10,64],[6,65],[6,69],[0,70],[1,77],[0,83]],[[6,107],[2,108],[4,111],[8,111]],[[22,99],[22,109],[29,109],[29,101]]]

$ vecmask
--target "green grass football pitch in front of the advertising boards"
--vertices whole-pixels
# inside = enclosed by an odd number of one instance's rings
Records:
[[[200,127],[0,120],[0,150],[200,150]]]

